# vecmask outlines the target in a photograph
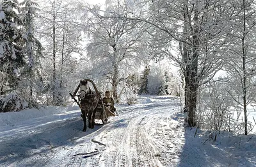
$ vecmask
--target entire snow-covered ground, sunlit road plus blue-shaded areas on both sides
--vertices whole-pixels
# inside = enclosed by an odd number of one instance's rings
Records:
[[[175,97],[116,109],[119,116],[86,132],[76,106],[0,113],[0,166],[256,166],[255,135],[194,138]]]

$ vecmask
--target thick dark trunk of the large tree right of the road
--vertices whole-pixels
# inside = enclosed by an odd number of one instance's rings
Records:
[[[188,112],[188,124],[190,127],[196,125],[196,102],[197,102],[197,68],[198,68],[198,26],[191,25],[190,15],[188,13],[188,0],[184,1],[184,29],[183,29],[183,52],[182,60],[184,62],[185,77],[185,109]],[[190,22],[189,22],[190,20]],[[195,10],[194,22],[198,21],[198,12]],[[196,25],[196,24],[195,24]],[[189,44],[189,34],[193,36],[193,43]]]

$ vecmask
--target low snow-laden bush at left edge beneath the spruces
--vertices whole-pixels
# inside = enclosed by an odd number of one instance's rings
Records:
[[[28,102],[15,93],[10,93],[6,97],[0,97],[0,113],[8,111],[20,111],[28,107]]]

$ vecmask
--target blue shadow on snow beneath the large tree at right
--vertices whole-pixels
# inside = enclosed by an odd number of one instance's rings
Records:
[[[194,138],[195,129],[186,129],[184,135],[186,141],[180,153],[179,167],[256,166],[255,135],[242,135],[240,141],[240,136],[222,132],[215,142],[206,141],[208,136]]]

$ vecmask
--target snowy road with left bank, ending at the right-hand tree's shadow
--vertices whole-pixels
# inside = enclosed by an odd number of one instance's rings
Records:
[[[86,132],[79,110],[0,127],[0,166],[176,166],[184,143],[179,100],[140,100]]]

